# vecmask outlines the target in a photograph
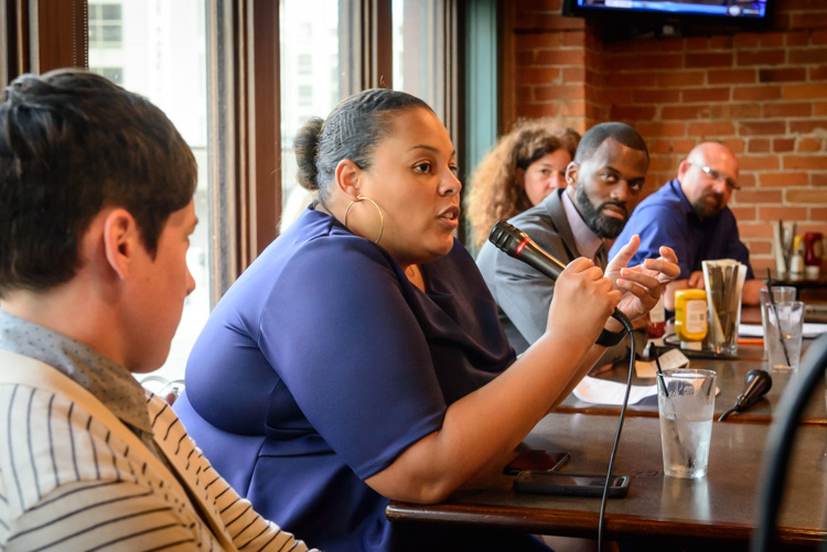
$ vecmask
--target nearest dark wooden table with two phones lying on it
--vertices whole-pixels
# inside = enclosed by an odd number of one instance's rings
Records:
[[[567,451],[562,472],[605,473],[617,420],[605,415],[549,414],[526,439],[531,448]],[[716,423],[709,473],[700,480],[663,473],[659,422],[626,419],[615,474],[629,475],[629,496],[610,499],[608,540],[648,543],[657,550],[744,550],[755,519],[756,481],[767,425]],[[827,495],[827,427],[803,426],[794,448],[778,538],[784,546],[814,548],[823,529]],[[523,495],[502,466],[439,505],[390,502],[394,522],[460,523],[531,533],[594,538],[600,499]]]

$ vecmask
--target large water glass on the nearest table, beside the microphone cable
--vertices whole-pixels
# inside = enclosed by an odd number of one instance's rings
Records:
[[[715,383],[712,370],[666,370],[657,375],[664,474],[690,479],[707,475]]]

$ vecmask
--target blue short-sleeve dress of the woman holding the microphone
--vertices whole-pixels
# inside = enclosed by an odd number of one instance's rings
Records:
[[[461,243],[422,267],[307,209],[227,291],[175,410],[264,516],[327,551],[484,550],[520,538],[391,526],[364,479],[514,361]],[[482,540],[479,540],[482,539]],[[516,546],[516,548],[515,548]]]

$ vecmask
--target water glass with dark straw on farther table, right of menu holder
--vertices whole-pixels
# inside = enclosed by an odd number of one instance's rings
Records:
[[[766,318],[764,347],[770,371],[787,372],[798,369],[802,356],[802,332],[804,329],[804,303],[782,301],[761,305]]]

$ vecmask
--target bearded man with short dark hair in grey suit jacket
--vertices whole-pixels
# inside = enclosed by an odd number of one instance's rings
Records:
[[[675,262],[669,248],[660,250],[658,264],[648,264],[653,259],[626,268],[637,247],[636,238],[624,243],[611,263],[606,261],[605,241],[617,237],[637,204],[648,163],[646,143],[634,128],[622,122],[597,125],[580,139],[574,160],[566,170],[568,187],[557,190],[508,223],[562,263],[584,257],[605,269],[606,277],[615,282],[635,271],[658,270],[663,262]],[[476,263],[497,302],[508,342],[518,354],[525,351],[546,332],[543,313],[557,296],[555,281],[490,242],[483,245]],[[619,307],[632,320],[647,311],[631,294]],[[620,332],[620,325],[613,332]],[[626,351],[621,344],[610,349],[599,365],[627,356]]]

